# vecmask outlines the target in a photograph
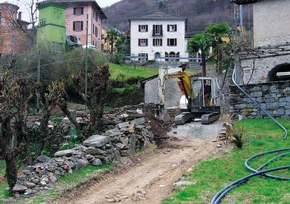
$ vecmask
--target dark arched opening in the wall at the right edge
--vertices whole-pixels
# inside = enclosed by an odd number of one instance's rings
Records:
[[[267,76],[267,82],[290,80],[290,64],[284,63],[274,67]]]

